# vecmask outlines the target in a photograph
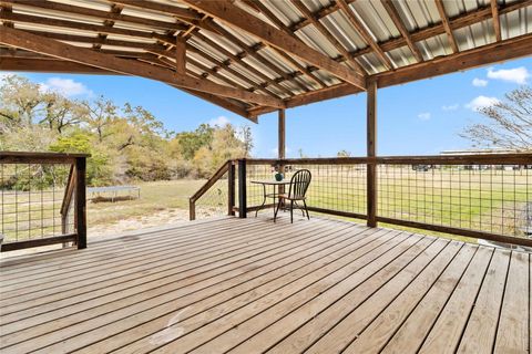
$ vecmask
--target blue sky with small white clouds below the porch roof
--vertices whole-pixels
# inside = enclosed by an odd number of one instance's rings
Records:
[[[25,74],[30,80],[65,91],[73,98],[103,94],[119,104],[142,105],[168,129],[190,131],[201,123],[250,125],[254,156],[273,157],[277,146],[277,114],[259,124],[239,117],[165,84],[129,76]],[[470,147],[459,136],[482,119],[477,106],[532,81],[532,58],[379,90],[378,154],[427,155]],[[366,154],[366,94],[329,100],[286,112],[287,155],[336,156],[341,149]]]

